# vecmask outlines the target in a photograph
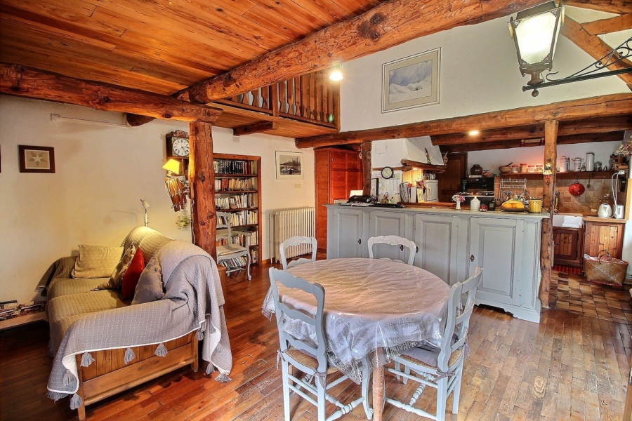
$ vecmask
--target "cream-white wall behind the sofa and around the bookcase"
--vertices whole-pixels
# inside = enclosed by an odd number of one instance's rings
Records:
[[[0,95],[0,300],[24,302],[55,259],[77,244],[118,246],[143,225],[140,199],[150,203],[150,227],[190,241],[176,227],[177,213],[164,193],[165,134],[187,123],[152,121],[137,128],[100,123],[51,121],[52,114],[121,122],[119,113]],[[55,148],[55,174],[19,173],[18,145]],[[294,180],[275,180],[275,150],[297,151],[294,140],[272,135],[233,137],[213,128],[215,152],[262,156],[263,212],[314,205],[314,155],[305,154],[301,189]],[[263,255],[268,257],[263,218]]]

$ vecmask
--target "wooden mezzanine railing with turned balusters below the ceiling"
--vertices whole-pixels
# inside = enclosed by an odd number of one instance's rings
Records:
[[[338,128],[340,83],[327,69],[296,76],[218,101],[272,116]]]

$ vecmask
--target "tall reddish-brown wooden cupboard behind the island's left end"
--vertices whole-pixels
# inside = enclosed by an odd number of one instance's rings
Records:
[[[327,208],[334,200],[349,199],[351,190],[361,190],[362,160],[348,149],[315,149],[316,172],[316,239],[318,249],[327,249]]]

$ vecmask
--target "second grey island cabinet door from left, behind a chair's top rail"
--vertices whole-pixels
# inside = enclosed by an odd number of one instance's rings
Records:
[[[367,233],[366,240],[372,236],[381,235],[397,235],[404,236],[404,213],[393,212],[388,210],[371,210],[369,212],[369,232]],[[369,248],[364,246],[362,250],[364,257],[369,257]],[[398,259],[402,262],[408,260],[408,251],[400,250],[395,246],[389,246],[388,244],[375,244],[373,246],[374,258],[389,258]]]

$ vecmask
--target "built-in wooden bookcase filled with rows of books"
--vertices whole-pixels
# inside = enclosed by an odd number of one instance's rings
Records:
[[[248,241],[256,265],[261,262],[261,156],[213,154],[213,170],[216,211],[235,215],[232,236],[242,246]]]

